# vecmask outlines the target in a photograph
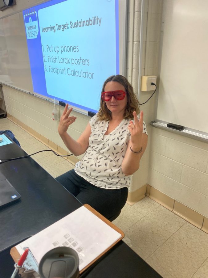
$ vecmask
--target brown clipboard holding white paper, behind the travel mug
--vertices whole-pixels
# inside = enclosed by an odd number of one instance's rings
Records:
[[[39,264],[47,251],[58,246],[71,247],[78,253],[81,273],[123,237],[114,224],[84,205],[13,248],[22,255],[28,247]]]

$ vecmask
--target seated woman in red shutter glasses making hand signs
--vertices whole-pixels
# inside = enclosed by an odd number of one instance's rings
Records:
[[[75,169],[56,179],[82,204],[104,217],[118,215],[126,203],[131,175],[139,169],[147,146],[143,112],[133,87],[122,75],[110,76],[103,85],[99,112],[92,117],[77,141],[67,134],[76,117],[66,105],[58,131],[75,156],[84,154]]]

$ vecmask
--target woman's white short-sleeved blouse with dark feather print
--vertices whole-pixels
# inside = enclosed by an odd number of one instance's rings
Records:
[[[90,120],[91,135],[89,146],[81,161],[75,165],[75,172],[89,183],[107,189],[129,187],[131,177],[126,176],[121,164],[125,156],[131,133],[128,130],[130,120],[124,119],[108,135],[109,121],[97,120],[97,114]],[[147,134],[143,122],[143,133]]]

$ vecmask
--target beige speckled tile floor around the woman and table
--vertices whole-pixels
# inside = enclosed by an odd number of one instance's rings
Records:
[[[10,120],[0,119],[0,130],[6,129],[28,154],[48,149]],[[74,167],[52,152],[32,157],[54,178]],[[152,199],[126,204],[113,223],[124,231],[124,242],[162,277],[208,278],[208,234]]]

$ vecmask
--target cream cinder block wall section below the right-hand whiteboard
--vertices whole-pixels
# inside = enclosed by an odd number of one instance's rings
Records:
[[[148,183],[208,217],[208,144],[152,128]]]

